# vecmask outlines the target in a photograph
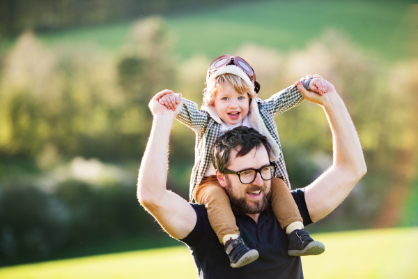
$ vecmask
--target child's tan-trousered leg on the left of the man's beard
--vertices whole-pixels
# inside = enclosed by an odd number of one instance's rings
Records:
[[[205,204],[210,225],[220,243],[224,245],[224,238],[238,238],[240,230],[236,225],[229,197],[224,188],[219,185],[216,176],[209,176],[208,179],[202,181],[197,188],[195,199],[199,204]]]

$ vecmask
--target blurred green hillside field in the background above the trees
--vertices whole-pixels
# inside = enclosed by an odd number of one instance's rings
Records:
[[[410,52],[415,29],[408,1],[249,1],[165,16],[180,57],[208,57],[256,43],[284,52],[304,48],[327,29],[340,31],[357,45],[388,59]],[[39,34],[47,43],[92,42],[114,52],[127,42],[132,22]],[[10,40],[3,45],[11,45]]]

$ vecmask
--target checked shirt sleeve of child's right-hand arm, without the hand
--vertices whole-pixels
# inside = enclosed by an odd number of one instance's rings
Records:
[[[297,89],[297,86],[292,85],[275,93],[267,100],[261,101],[261,106],[274,117],[299,105],[303,100],[304,97]]]

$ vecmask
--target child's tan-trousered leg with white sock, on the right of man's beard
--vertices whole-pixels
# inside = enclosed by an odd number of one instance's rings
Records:
[[[303,229],[303,220],[295,199],[293,199],[286,183],[277,177],[272,178],[271,203],[274,215],[279,220],[281,228],[285,229],[291,225],[286,229],[287,234],[291,233],[294,229]]]

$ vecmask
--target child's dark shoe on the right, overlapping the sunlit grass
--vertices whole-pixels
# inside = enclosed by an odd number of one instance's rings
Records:
[[[309,233],[304,229],[295,229],[288,234],[289,239],[289,256],[309,256],[319,255],[325,251],[325,246],[319,241],[309,236]]]

